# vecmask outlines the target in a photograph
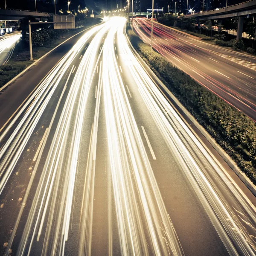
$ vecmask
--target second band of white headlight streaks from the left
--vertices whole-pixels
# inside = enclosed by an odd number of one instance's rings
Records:
[[[35,195],[29,218],[26,223],[25,232],[19,246],[19,255],[23,255],[27,246],[29,234],[32,233],[32,239],[29,244],[29,252],[32,248],[35,233],[38,230],[37,241],[40,239],[41,230],[44,225],[44,219],[46,211],[49,211],[49,217],[47,221],[47,227],[45,232],[44,246],[42,255],[55,255],[64,254],[65,241],[67,241],[68,230],[70,225],[70,214],[73,199],[73,189],[76,177],[76,169],[78,163],[78,153],[81,140],[81,130],[84,123],[84,113],[86,110],[86,102],[90,85],[92,82],[93,74],[96,72],[96,66],[94,61],[96,59],[99,42],[104,33],[107,31],[108,25],[105,25],[99,33],[93,38],[91,44],[85,52],[81,64],[76,72],[75,79],[70,87],[70,92],[67,96],[64,108],[61,113],[61,117],[58,122],[57,129],[55,131],[54,139],[49,150],[47,160],[44,166],[43,174],[39,182],[40,189],[37,190]],[[98,58],[99,61],[99,58]],[[96,62],[96,64],[98,63]],[[78,103],[76,103],[78,101]],[[77,106],[77,108],[75,108]],[[74,125],[72,125],[71,120]],[[73,127],[72,129],[70,127]],[[71,135],[70,135],[71,133]],[[66,148],[64,145],[68,145],[67,141],[70,139],[70,146]],[[66,163],[67,159],[67,163]],[[91,171],[91,170],[89,170]],[[61,182],[61,175],[64,175],[64,183],[62,184],[61,192],[59,190],[59,184]],[[93,182],[93,173],[86,175],[86,182]],[[90,181],[91,180],[91,181]],[[92,183],[93,184],[93,183]],[[50,197],[52,195],[50,207]],[[93,187],[88,186],[89,196],[87,199],[86,209],[88,210],[89,216],[93,209]],[[56,209],[57,195],[61,195],[61,204]],[[38,210],[39,209],[39,210]],[[55,220],[55,230],[52,231],[52,223]],[[91,226],[92,218],[85,218],[86,224]],[[35,225],[35,226],[33,226]],[[91,239],[90,234],[85,235]],[[83,232],[82,232],[83,234]],[[51,243],[49,238],[52,237]],[[89,244],[88,244],[89,245]]]

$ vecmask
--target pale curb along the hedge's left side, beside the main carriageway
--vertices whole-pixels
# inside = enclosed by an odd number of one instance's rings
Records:
[[[125,30],[125,35],[128,38]],[[131,45],[130,40],[128,42]],[[134,49],[134,47],[131,45],[134,52],[136,52],[137,57],[140,59],[141,62],[145,64],[146,67],[148,65],[145,63],[145,61],[140,57],[138,52]],[[200,125],[194,116],[192,116],[191,113],[179,102],[179,100],[172,94],[172,92],[163,84],[162,81],[154,74],[154,72],[148,67],[148,70],[150,70],[151,75],[157,80],[157,82],[161,85],[161,87],[168,93],[168,95],[172,98],[172,100],[177,104],[177,106],[183,111],[183,113],[189,118],[189,120],[195,125],[196,128],[201,132],[201,134],[207,139],[207,141],[212,145],[212,147],[218,152],[218,154],[222,157],[222,159],[230,166],[230,168],[233,170],[233,172],[236,173],[236,175],[240,178],[240,180],[244,183],[245,186],[250,190],[250,192],[253,193],[254,196],[256,196],[256,186],[250,181],[250,179],[239,169],[239,167],[236,165],[236,163],[231,159],[231,157],[221,148],[220,145],[208,134],[208,132],[204,129],[202,125]],[[188,125],[190,128],[190,126]],[[190,128],[192,130],[192,128]],[[193,130],[192,130],[193,131]],[[198,137],[198,136],[197,136]],[[200,140],[200,138],[198,138]],[[206,146],[204,146],[206,148]],[[234,181],[233,181],[234,182]],[[235,182],[234,182],[235,183]]]

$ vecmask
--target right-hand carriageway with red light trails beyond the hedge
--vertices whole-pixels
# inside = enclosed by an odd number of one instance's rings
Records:
[[[154,22],[153,47],[180,70],[256,120],[256,60],[210,45]],[[151,44],[151,22],[134,19],[140,38]]]

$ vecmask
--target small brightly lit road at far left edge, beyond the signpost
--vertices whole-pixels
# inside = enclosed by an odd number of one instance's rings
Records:
[[[14,32],[0,37],[0,65],[6,64],[12,56],[15,44],[20,40],[20,32]]]

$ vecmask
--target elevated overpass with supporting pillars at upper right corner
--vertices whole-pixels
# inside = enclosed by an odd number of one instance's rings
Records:
[[[255,13],[256,13],[256,0],[249,0],[244,3],[239,3],[232,6],[216,9],[216,10],[193,13],[191,15],[186,15],[185,18],[195,17],[198,20],[218,20],[219,24],[221,24],[221,19],[239,17],[236,38],[241,39],[242,32],[243,32],[244,17],[247,15],[255,14]]]

